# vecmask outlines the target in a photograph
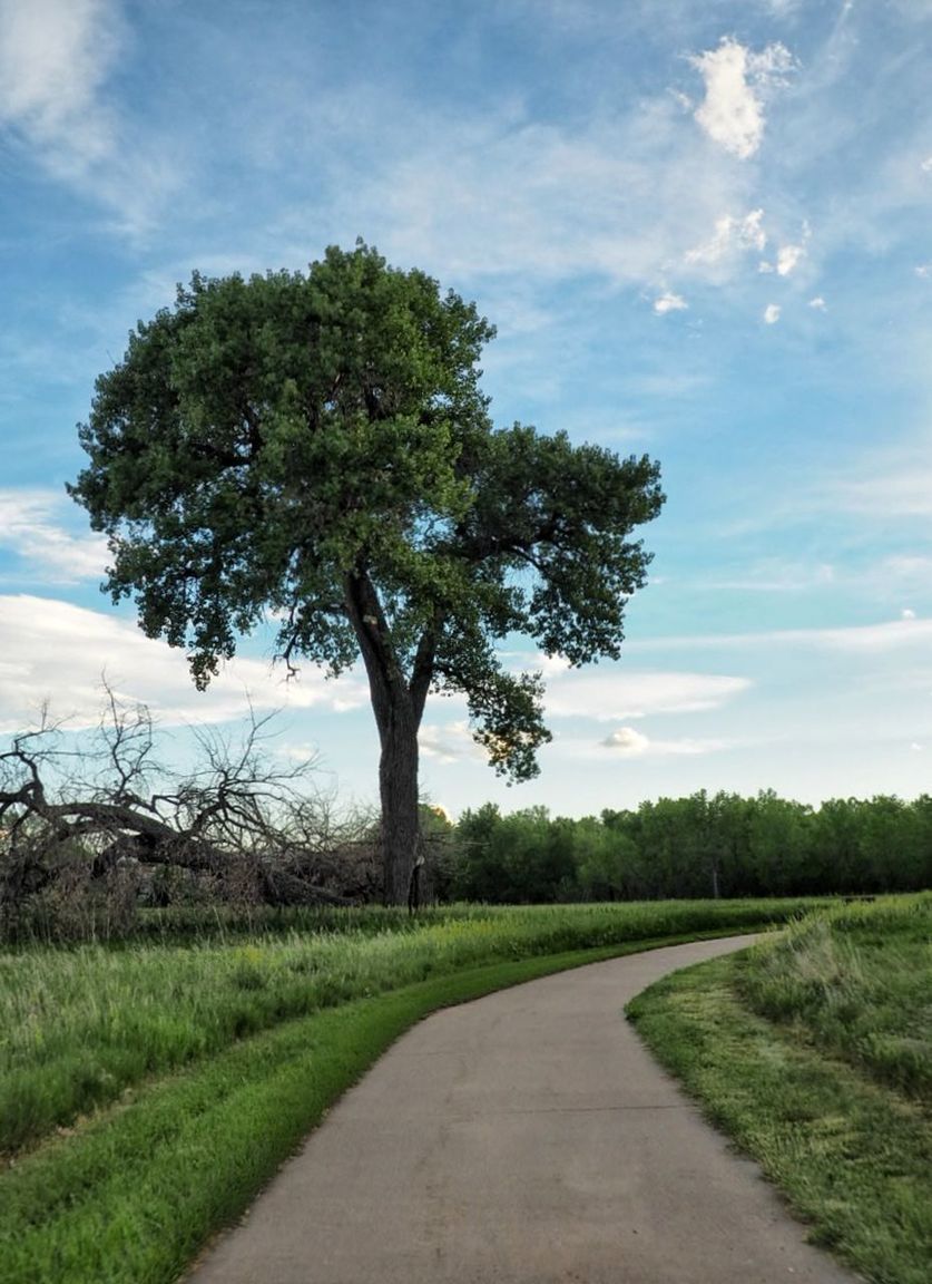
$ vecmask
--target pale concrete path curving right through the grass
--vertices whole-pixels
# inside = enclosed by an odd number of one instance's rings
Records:
[[[749,944],[651,950],[415,1026],[191,1284],[845,1284],[622,1008]]]

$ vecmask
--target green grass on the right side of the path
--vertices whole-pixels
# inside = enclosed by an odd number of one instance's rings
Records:
[[[932,1278],[932,898],[846,907],[628,1014],[711,1121],[878,1284]]]

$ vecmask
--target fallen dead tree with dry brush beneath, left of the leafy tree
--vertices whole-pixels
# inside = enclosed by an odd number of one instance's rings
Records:
[[[269,743],[253,711],[233,741],[196,732],[168,768],[149,709],[105,686],[99,725],[44,710],[0,752],[0,933],[124,931],[140,904],[354,904],[378,886],[377,833],[314,788],[315,763]]]

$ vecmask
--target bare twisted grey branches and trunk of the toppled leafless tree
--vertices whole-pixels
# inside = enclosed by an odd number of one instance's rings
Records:
[[[127,864],[217,883],[236,871],[256,900],[346,900],[322,858],[358,822],[341,833],[333,800],[309,791],[314,760],[272,751],[274,716],[250,706],[238,738],[197,731],[196,765],[178,772],[158,760],[149,709],[105,678],[101,720],[78,749],[42,709],[0,752],[0,926],[58,877],[65,855],[96,880]]]

